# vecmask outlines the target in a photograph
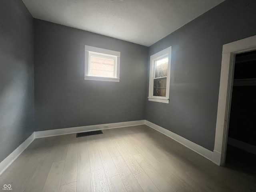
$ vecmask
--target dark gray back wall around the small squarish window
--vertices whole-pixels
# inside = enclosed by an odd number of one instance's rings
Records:
[[[120,82],[84,80],[84,45],[121,52]],[[34,20],[36,129],[143,120],[148,47]]]

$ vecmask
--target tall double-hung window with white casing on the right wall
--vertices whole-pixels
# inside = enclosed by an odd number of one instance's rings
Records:
[[[172,47],[150,56],[148,100],[169,103]]]

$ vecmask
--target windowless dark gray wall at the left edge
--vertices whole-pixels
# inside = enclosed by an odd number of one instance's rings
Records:
[[[0,162],[34,131],[33,18],[0,1]]]

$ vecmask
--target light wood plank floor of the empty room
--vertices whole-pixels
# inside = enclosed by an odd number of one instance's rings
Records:
[[[0,176],[0,186],[11,184],[13,192],[256,192],[255,174],[217,166],[146,125],[102,131],[34,140]]]

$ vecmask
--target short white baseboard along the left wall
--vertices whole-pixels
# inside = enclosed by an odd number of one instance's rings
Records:
[[[32,143],[35,139],[34,132],[18,146],[10,155],[0,162],[0,175],[20,156],[20,154]]]

